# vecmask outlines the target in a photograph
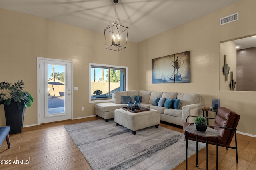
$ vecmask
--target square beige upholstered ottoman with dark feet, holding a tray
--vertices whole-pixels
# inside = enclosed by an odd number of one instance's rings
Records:
[[[137,130],[146,127],[155,126],[158,128],[160,124],[160,113],[157,110],[150,109],[148,111],[141,111],[132,113],[128,109],[115,110],[116,125],[122,125],[132,130],[132,134],[136,135]]]

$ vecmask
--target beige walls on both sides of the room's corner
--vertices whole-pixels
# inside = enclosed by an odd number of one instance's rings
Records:
[[[94,104],[88,101],[89,63],[127,66],[128,90],[199,93],[205,106],[211,105],[212,98],[219,98],[221,106],[241,115],[238,131],[256,135],[256,92],[220,90],[224,63],[219,53],[220,42],[256,34],[255,6],[255,0],[241,0],[138,44],[128,42],[127,49],[120,52],[105,49],[103,33],[0,9],[0,81],[24,80],[25,90],[35,98],[24,118],[24,125],[31,125],[37,120],[36,57],[74,62],[74,86],[78,87],[74,91],[74,118],[94,115]],[[238,21],[219,25],[219,18],[236,12]],[[189,50],[191,83],[152,84],[152,59]],[[127,59],[132,62],[125,62]],[[0,123],[5,123],[3,106]]]

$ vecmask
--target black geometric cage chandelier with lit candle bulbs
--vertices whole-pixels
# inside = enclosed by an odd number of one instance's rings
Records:
[[[118,0],[113,1],[115,4]],[[106,29],[104,29],[106,49],[120,51],[126,48],[127,37],[128,37],[128,27],[118,25],[117,21],[115,23],[110,23]]]

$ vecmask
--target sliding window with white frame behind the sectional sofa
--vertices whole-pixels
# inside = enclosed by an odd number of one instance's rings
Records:
[[[94,63],[89,65],[90,102],[111,101],[115,91],[126,90],[127,67]]]

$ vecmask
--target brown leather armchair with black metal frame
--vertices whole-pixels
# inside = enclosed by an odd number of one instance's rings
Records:
[[[190,116],[188,116],[190,117]],[[195,116],[192,116],[195,117]],[[220,132],[218,137],[218,146],[236,149],[236,163],[238,163],[238,153],[237,153],[237,142],[236,142],[236,127],[240,119],[240,115],[236,114],[234,111],[227,109],[226,107],[219,107],[218,114],[215,118],[206,117],[209,119],[215,119],[213,125],[207,125],[208,127],[214,128]],[[186,139],[186,130],[185,127],[188,125],[194,125],[194,123],[184,122],[183,131]],[[235,147],[231,147],[230,143],[235,134]],[[196,141],[196,135],[189,134],[188,139]],[[205,137],[198,136],[199,142],[206,143]],[[216,138],[208,138],[208,143],[216,145]]]

